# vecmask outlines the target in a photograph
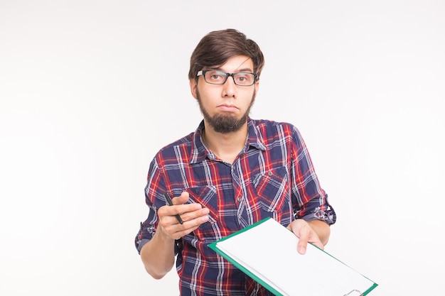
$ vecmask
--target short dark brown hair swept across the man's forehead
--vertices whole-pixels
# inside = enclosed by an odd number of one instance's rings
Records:
[[[204,67],[223,65],[234,55],[247,55],[253,61],[253,71],[258,77],[264,66],[264,56],[254,40],[235,29],[213,31],[205,35],[196,45],[190,58],[188,79],[196,79]]]

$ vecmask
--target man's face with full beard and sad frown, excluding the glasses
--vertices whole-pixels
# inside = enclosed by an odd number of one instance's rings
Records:
[[[245,55],[230,57],[224,65],[212,67],[227,73],[253,72],[253,62]],[[206,69],[204,69],[206,70]],[[249,87],[236,85],[232,77],[225,84],[209,84],[204,77],[190,80],[193,97],[198,100],[205,124],[219,133],[239,131],[247,124],[247,116],[259,87],[255,82]]]

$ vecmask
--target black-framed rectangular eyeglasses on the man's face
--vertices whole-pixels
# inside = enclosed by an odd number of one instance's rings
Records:
[[[205,82],[210,84],[225,84],[227,78],[233,78],[235,84],[250,87],[257,81],[258,75],[250,72],[226,73],[218,70],[200,70],[196,76],[203,75]]]

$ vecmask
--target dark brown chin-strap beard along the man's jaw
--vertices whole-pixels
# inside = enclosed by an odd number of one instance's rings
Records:
[[[250,114],[250,109],[252,109],[253,103],[255,102],[255,96],[256,92],[254,91],[252,95],[252,101],[245,111],[245,114],[242,114],[241,118],[237,119],[237,116],[230,114],[215,114],[213,116],[210,116],[210,114],[208,114],[208,112],[205,111],[203,107],[198,89],[196,90],[196,99],[198,99],[201,114],[203,114],[205,121],[207,121],[208,124],[210,124],[210,126],[212,126],[212,128],[218,133],[232,133],[235,131],[239,131],[247,122],[247,117]]]

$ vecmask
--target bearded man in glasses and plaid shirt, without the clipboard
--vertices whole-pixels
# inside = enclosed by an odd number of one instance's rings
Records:
[[[204,119],[151,162],[149,216],[136,248],[156,279],[177,256],[181,295],[272,295],[208,244],[272,217],[299,237],[296,251],[305,253],[308,242],[326,245],[336,221],[299,131],[250,119],[263,65],[257,43],[245,34],[205,35],[188,72]],[[172,206],[164,194],[173,197]]]

